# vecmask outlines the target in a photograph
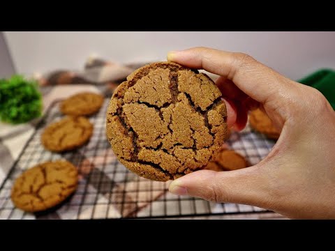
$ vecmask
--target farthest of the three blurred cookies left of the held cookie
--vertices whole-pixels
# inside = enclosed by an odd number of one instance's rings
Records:
[[[95,114],[103,105],[103,96],[96,93],[78,93],[61,102],[59,109],[63,114],[71,116],[87,116]]]

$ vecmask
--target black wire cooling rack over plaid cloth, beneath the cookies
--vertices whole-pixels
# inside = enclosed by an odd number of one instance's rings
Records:
[[[170,182],[141,178],[117,160],[105,137],[105,112],[109,98],[98,114],[91,116],[94,134],[89,143],[68,153],[51,153],[40,144],[45,126],[62,117],[59,100],[52,103],[36,126],[36,131],[22,150],[0,186],[0,219],[101,219],[101,218],[178,218],[206,215],[267,212],[255,206],[216,204],[203,199],[172,195]],[[252,132],[247,126],[233,132],[227,142],[255,165],[269,153],[274,141]],[[40,213],[24,213],[13,206],[10,189],[24,170],[34,165],[66,159],[76,165],[80,181],[76,192],[59,206]]]

